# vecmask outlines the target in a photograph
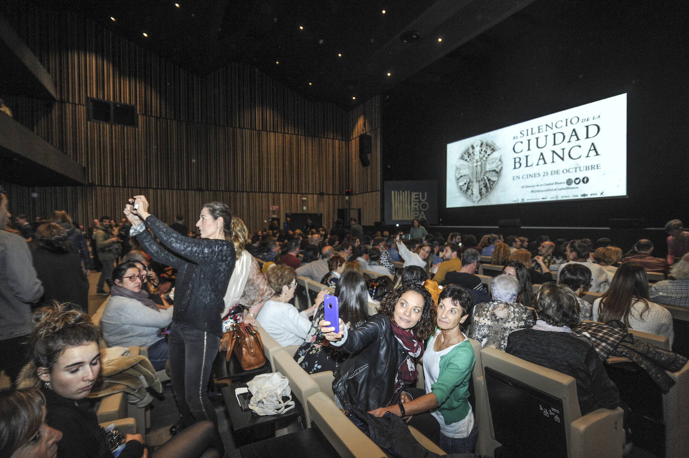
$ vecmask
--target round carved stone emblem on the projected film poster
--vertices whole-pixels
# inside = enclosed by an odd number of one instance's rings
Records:
[[[488,196],[502,171],[502,157],[497,145],[489,140],[476,140],[457,159],[457,187],[469,200],[477,203]]]

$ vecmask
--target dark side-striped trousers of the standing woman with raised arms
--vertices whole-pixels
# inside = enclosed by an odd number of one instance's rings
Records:
[[[170,384],[185,426],[201,420],[218,426],[218,417],[208,399],[208,381],[219,344],[220,337],[214,334],[172,323],[167,340]]]

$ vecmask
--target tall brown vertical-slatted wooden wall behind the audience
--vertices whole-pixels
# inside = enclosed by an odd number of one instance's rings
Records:
[[[7,0],[0,14],[53,76],[59,94],[49,105],[8,98],[15,118],[84,165],[91,184],[13,186],[13,206],[22,212],[66,209],[79,221],[91,220],[120,214],[127,196],[145,191],[160,199],[166,221],[178,211],[195,218],[203,202],[223,200],[258,229],[272,215],[269,205],[278,205],[276,216],[284,218],[306,202],[307,211],[322,213],[331,225],[351,187],[353,201],[365,208],[362,223],[380,220],[380,199],[373,198],[380,191],[378,97],[348,113],[307,101],[248,65],[191,74],[81,14],[45,3]],[[136,105],[138,127],[87,121],[88,97]],[[358,161],[362,132],[373,136],[371,167]]]

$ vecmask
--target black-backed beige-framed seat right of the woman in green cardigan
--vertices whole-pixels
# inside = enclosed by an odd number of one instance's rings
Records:
[[[573,377],[496,348],[484,348],[481,361],[491,439],[507,452],[532,458],[622,456],[621,408],[582,416]],[[481,451],[496,455],[503,451],[500,447]]]

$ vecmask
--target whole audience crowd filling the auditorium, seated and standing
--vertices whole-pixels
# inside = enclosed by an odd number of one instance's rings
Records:
[[[27,428],[43,430],[43,448],[56,444],[58,456],[105,456],[92,451],[102,446],[94,415],[70,401],[92,385],[75,388],[60,366],[78,363],[95,379],[101,332],[107,346],[146,347],[156,371],[169,368],[180,410],[174,433],[196,428],[220,452],[207,386],[220,337],[242,309],[245,322],[298,347],[294,358],[307,373],[333,371],[338,405],[420,419],[431,411],[436,433],[429,437],[448,452],[473,452],[469,337],[575,377],[583,414],[615,408],[619,395],[577,332],[582,322],[626,326],[672,344],[664,305],[689,306],[689,233],[679,220],[666,226],[668,256],[655,258],[646,238],[626,253],[608,239],[529,242],[489,233],[477,242],[473,234],[429,233],[418,220],[406,236],[369,230],[355,218],[330,230],[287,218],[281,228],[273,221],[251,233],[219,202],[206,204],[189,231],[183,215],[170,227],[152,216],[144,196],[130,200],[119,222],[102,216],[86,230],[65,211],[12,220],[1,187],[0,199],[0,369],[13,385],[23,379],[30,388],[1,395],[31,410],[36,418]],[[494,278],[477,275],[482,264]],[[108,296],[98,328],[85,315],[94,312],[87,275],[96,271],[95,292]],[[649,273],[665,279],[649,285]],[[298,277],[324,288],[301,311],[294,297],[307,292],[298,291]],[[327,288],[339,298],[338,333],[325,320]],[[593,304],[584,299],[590,293]],[[371,306],[378,313],[369,316]],[[414,393],[422,356],[425,386]],[[65,415],[82,415],[88,452]],[[0,434],[0,450],[9,450],[3,456],[24,456],[15,452],[34,446],[26,433]],[[141,437],[127,439],[137,444],[126,456],[141,456]]]

